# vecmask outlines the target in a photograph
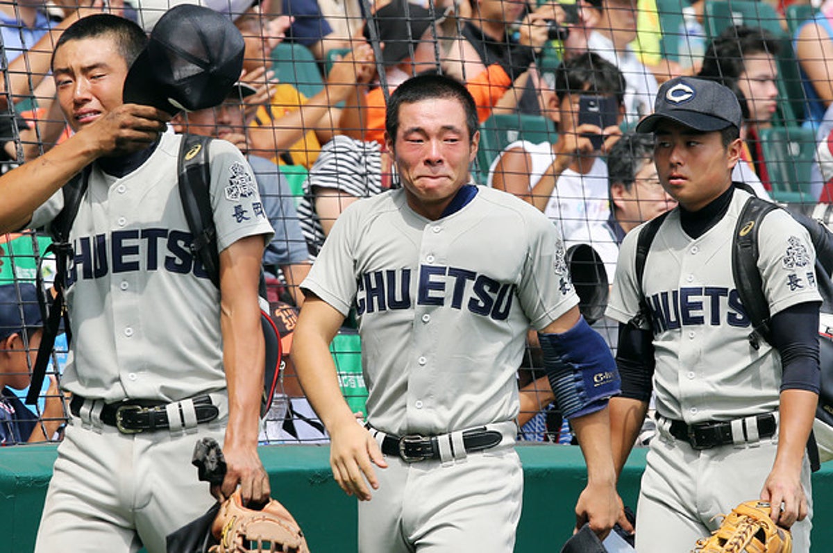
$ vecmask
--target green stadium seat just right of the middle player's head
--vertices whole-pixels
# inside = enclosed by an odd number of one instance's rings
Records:
[[[528,140],[537,144],[540,142],[555,142],[557,137],[555,123],[546,117],[522,113],[492,115],[480,127],[477,165],[482,182],[486,182],[491,162],[511,142]]]

